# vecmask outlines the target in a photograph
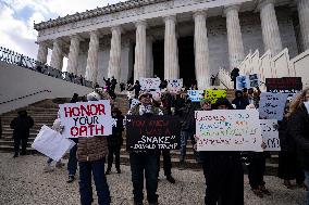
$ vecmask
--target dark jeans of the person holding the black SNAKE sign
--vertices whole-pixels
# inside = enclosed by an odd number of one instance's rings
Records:
[[[144,172],[146,179],[147,200],[157,203],[158,195],[158,155],[147,153],[129,153],[134,201],[143,203]]]

